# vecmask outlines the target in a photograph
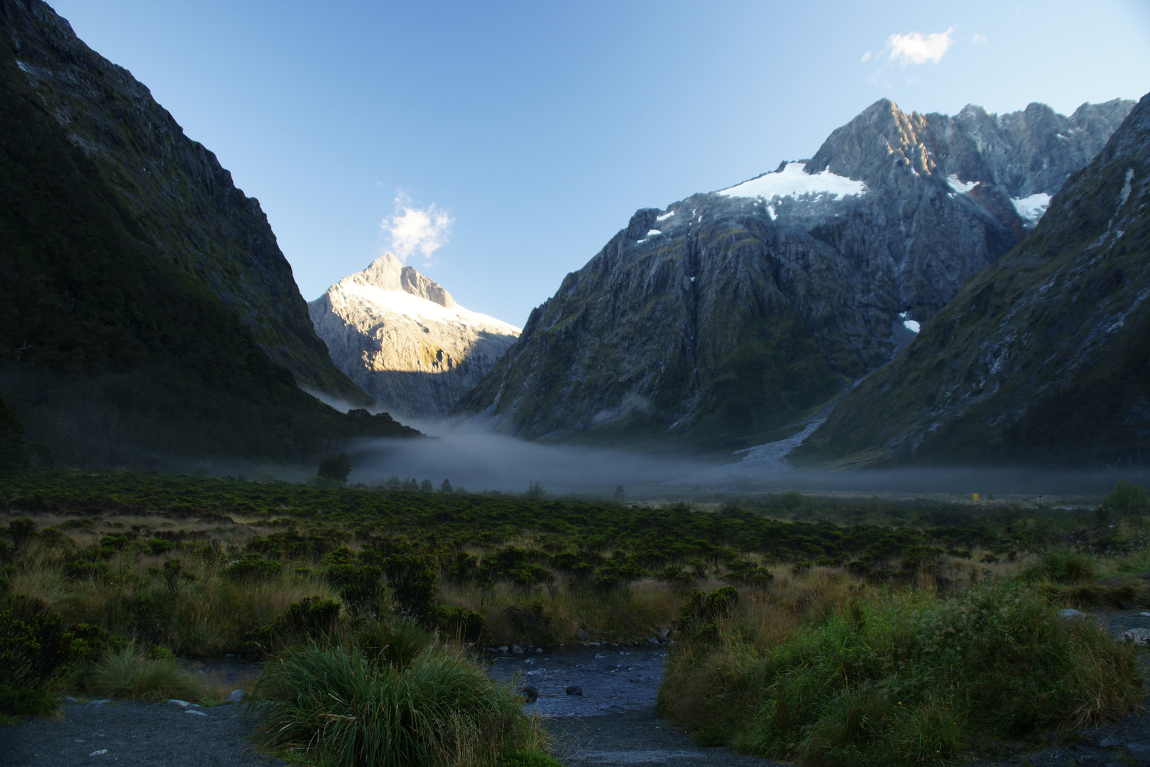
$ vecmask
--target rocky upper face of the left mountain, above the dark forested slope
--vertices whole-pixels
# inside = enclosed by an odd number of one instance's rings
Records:
[[[239,314],[300,385],[368,404],[315,336],[259,201],[236,189],[215,154],[40,0],[0,2],[0,39],[40,106],[168,259]]]

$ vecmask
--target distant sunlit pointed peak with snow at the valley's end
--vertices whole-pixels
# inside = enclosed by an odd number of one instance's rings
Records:
[[[447,415],[520,329],[455,304],[388,253],[308,304],[331,359],[381,407]]]

